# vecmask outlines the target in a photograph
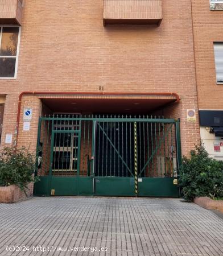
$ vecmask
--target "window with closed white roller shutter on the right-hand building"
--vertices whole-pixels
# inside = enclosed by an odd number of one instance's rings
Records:
[[[223,84],[223,43],[214,43],[214,59],[217,84]]]

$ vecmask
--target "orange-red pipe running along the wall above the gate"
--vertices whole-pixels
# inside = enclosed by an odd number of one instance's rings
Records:
[[[124,92],[22,92],[19,94],[19,103],[18,103],[18,110],[17,110],[17,118],[16,118],[16,138],[18,138],[19,133],[19,119],[20,119],[20,111],[21,111],[21,104],[22,104],[22,96],[25,94],[49,94],[49,95],[157,95],[157,96],[175,96],[176,103],[180,101],[180,97],[177,93],[124,93]],[[17,144],[17,139],[16,139]]]

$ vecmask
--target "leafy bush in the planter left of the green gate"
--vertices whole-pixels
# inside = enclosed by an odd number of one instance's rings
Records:
[[[22,147],[4,147],[0,151],[0,185],[18,185],[22,191],[27,184],[38,179],[33,176],[35,171],[35,156]]]

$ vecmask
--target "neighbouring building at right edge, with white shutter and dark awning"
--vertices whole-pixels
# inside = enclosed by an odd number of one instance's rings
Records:
[[[191,2],[201,139],[213,158],[223,160],[223,4]]]

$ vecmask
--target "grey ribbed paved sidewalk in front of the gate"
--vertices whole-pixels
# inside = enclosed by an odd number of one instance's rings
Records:
[[[222,256],[223,220],[180,199],[34,197],[0,204],[0,255],[12,254]]]

